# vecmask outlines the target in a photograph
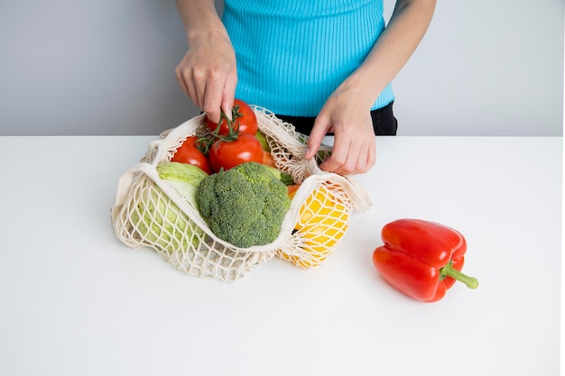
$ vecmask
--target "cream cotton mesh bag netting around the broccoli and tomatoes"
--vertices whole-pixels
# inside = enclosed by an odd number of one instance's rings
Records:
[[[274,256],[302,268],[326,260],[346,233],[351,212],[365,211],[371,201],[351,177],[318,168],[329,146],[320,148],[316,160],[304,160],[307,136],[268,110],[254,106],[254,111],[277,168],[301,184],[273,243],[239,248],[219,239],[198,209],[159,178],[157,165],[171,160],[187,137],[207,132],[204,114],[163,132],[120,177],[112,208],[117,238],[132,248],[152,248],[177,270],[220,280],[241,279]]]

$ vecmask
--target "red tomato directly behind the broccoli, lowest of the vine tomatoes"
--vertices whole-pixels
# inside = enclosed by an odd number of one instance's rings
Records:
[[[263,161],[263,147],[261,142],[247,133],[239,133],[235,141],[222,141],[212,143],[209,156],[212,170],[229,170],[245,162]]]

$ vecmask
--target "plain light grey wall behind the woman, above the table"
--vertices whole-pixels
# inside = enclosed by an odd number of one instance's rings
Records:
[[[563,5],[438,1],[394,80],[399,135],[562,135]],[[172,0],[3,1],[0,51],[0,135],[158,134],[198,114]]]

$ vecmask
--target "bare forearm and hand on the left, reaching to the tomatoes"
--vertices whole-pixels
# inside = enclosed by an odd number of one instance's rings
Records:
[[[236,52],[213,0],[176,0],[188,52],[175,69],[182,90],[213,122],[231,115],[236,93]]]

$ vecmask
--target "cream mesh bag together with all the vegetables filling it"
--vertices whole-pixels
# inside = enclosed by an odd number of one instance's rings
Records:
[[[120,178],[116,236],[203,278],[236,280],[274,256],[318,266],[352,210],[371,203],[350,177],[318,168],[329,147],[304,160],[306,142],[291,124],[237,100],[218,124],[196,116],[162,133]]]

